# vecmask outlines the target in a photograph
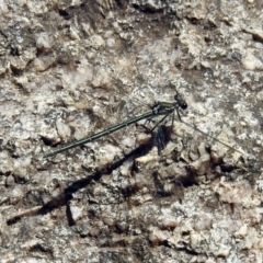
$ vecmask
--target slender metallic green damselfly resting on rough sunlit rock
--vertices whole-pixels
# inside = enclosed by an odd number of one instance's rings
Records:
[[[125,121],[121,124],[117,124],[113,127],[110,127],[107,129],[104,129],[95,135],[92,135],[88,138],[83,138],[83,139],[80,139],[80,140],[77,140],[77,141],[73,141],[71,144],[68,144],[68,145],[65,145],[54,151],[49,151],[49,152],[46,152],[44,153],[44,158],[48,158],[48,157],[53,157],[53,156],[56,156],[57,153],[60,153],[60,152],[64,152],[64,151],[67,151],[69,149],[72,149],[72,148],[76,148],[78,146],[81,146],[81,145],[84,145],[84,144],[88,144],[88,142],[91,142],[91,141],[94,141],[96,139],[100,139],[104,136],[107,136],[118,129],[122,129],[128,125],[132,125],[134,123],[137,123],[141,119],[149,119],[149,118],[152,118],[152,117],[156,117],[156,116],[161,116],[161,115],[164,115],[164,117],[160,121],[162,122],[164,118],[167,118],[169,115],[171,114],[174,114],[174,112],[178,113],[178,116],[179,118],[181,119],[180,117],[180,114],[179,114],[179,110],[182,108],[182,110],[185,110],[187,107],[187,104],[185,102],[185,100],[183,99],[183,96],[179,93],[176,93],[174,95],[174,100],[173,102],[156,102],[152,106],[151,106],[151,111],[145,113],[145,114],[141,114],[141,115],[137,115],[135,117],[132,117],[129,118],[128,121]]]

